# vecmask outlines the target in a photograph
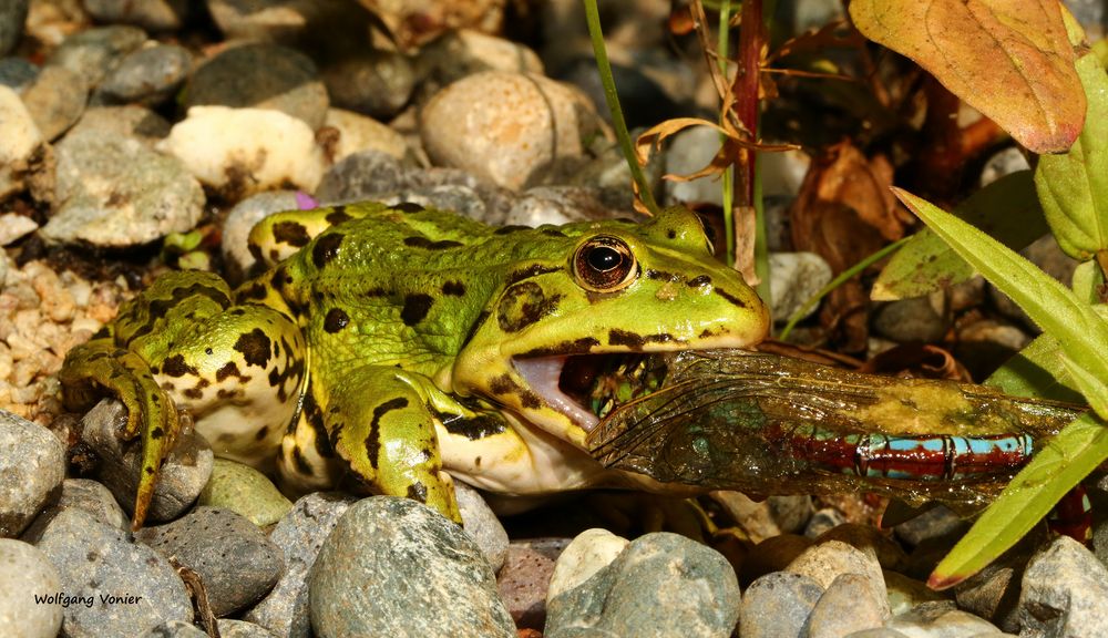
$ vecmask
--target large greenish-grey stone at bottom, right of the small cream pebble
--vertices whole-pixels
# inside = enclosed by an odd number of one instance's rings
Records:
[[[735,570],[715,549],[657,532],[633,541],[609,565],[547,605],[546,638],[714,637],[739,619]]]

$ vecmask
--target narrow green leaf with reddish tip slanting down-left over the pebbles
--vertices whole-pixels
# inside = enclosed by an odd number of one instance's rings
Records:
[[[957,585],[1016,544],[1066,492],[1108,459],[1108,423],[1079,416],[1032,457],[935,567],[927,586]]]

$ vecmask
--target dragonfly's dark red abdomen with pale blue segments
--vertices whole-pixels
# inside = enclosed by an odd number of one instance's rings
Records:
[[[984,436],[838,433],[810,424],[767,438],[812,466],[856,476],[907,481],[954,481],[1008,474],[1030,459],[1027,434]]]

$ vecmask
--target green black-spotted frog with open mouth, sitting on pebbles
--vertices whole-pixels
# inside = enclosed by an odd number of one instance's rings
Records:
[[[453,477],[511,495],[634,482],[586,452],[598,418],[571,377],[602,357],[743,348],[769,327],[685,209],[531,228],[350,204],[271,215],[249,248],[261,275],[235,290],[164,275],[65,359],[65,404],[114,394],[121,438],[142,442],[135,527],[178,410],[285,490],[343,481],[455,522]]]

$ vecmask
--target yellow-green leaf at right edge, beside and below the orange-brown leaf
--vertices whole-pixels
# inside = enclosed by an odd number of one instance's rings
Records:
[[[1088,100],[1085,127],[1069,152],[1039,158],[1035,186],[1058,245],[1084,261],[1108,248],[1108,74],[1092,53],[1076,68]]]

